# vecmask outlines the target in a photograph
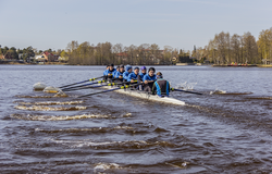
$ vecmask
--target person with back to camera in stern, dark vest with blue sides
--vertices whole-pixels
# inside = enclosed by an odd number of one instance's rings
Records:
[[[163,79],[161,72],[157,73],[157,80],[153,83],[152,95],[158,95],[159,97],[169,97],[170,84],[168,80]]]

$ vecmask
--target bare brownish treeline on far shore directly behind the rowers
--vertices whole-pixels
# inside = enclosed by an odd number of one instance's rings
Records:
[[[99,42],[97,46],[88,41],[78,44],[71,41],[61,57],[69,58],[69,64],[104,65],[104,64],[172,64],[173,57],[178,57],[177,49],[165,46],[144,44],[124,47],[122,44]]]

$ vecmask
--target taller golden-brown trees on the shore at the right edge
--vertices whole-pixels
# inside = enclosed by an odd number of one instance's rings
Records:
[[[272,59],[272,27],[262,30],[258,40],[249,32],[242,36],[221,32],[205,48],[195,48],[191,57],[217,64],[260,64]]]

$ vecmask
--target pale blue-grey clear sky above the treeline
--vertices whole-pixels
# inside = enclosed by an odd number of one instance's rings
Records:
[[[271,0],[0,0],[0,45],[65,49],[94,45],[157,44],[193,50],[215,34],[272,27]]]

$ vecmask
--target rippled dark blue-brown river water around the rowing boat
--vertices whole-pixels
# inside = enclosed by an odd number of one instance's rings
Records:
[[[156,66],[186,105],[34,91],[104,66],[0,65],[1,173],[271,173],[272,69]]]

